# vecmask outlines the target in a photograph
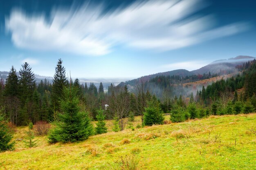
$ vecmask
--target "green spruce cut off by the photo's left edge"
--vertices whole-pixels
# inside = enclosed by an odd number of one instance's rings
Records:
[[[13,132],[9,128],[4,116],[0,115],[0,152],[5,150],[13,150],[14,142],[11,142]]]

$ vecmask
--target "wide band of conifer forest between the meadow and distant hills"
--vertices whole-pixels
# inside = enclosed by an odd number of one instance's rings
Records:
[[[189,95],[183,93],[187,94],[188,87],[179,83],[217,74],[183,78],[157,76],[149,81],[141,79],[134,86],[111,84],[108,92],[104,92],[102,83],[97,89],[94,83],[83,85],[78,78],[73,80],[66,74],[62,62],[58,60],[52,82],[45,79],[40,83],[36,83],[28,63],[22,64],[19,76],[12,66],[6,81],[0,81],[1,122],[9,122],[12,126],[51,123],[57,128],[49,133],[48,140],[55,143],[76,142],[93,134],[106,133],[105,119],[114,122],[113,131],[122,131],[127,127],[134,129],[130,124],[134,116],[139,116],[140,127],[143,127],[164,124],[163,113],[170,113],[171,122],[184,122],[256,110],[255,60],[237,66],[237,76],[202,86],[196,94]],[[98,121],[96,129],[90,123],[92,120]],[[72,128],[68,126],[70,122]],[[75,136],[71,133],[74,128]]]

